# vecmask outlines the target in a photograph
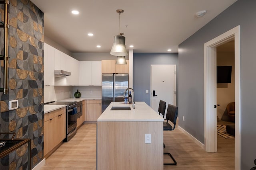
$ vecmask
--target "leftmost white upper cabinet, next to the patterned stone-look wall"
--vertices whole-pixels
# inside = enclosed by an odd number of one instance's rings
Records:
[[[44,43],[44,85],[54,86],[54,48]]]

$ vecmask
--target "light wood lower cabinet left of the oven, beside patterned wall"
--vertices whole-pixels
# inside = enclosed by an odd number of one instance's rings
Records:
[[[44,114],[44,156],[66,137],[66,107]]]

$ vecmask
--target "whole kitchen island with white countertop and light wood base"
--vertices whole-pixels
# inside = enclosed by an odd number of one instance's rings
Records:
[[[163,170],[163,121],[144,102],[112,102],[97,121],[97,169]]]

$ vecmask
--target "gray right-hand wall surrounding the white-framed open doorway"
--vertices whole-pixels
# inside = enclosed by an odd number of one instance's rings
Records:
[[[181,43],[178,57],[179,115],[186,117],[179,125],[204,143],[204,43],[240,25],[242,170],[256,159],[255,7],[256,0],[238,0]]]

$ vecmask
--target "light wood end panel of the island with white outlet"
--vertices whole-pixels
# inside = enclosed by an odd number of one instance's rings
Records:
[[[163,151],[162,121],[97,122],[98,170],[163,170]]]

